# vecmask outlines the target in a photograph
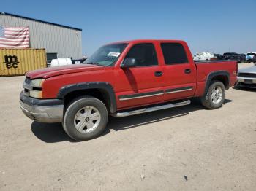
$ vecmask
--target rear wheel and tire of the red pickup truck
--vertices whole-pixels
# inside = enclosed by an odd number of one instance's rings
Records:
[[[217,93],[219,90],[219,93]],[[215,93],[214,93],[215,91]],[[221,95],[221,97],[220,97]],[[203,106],[208,109],[218,109],[225,101],[225,86],[222,82],[214,80],[208,87],[207,93],[201,98]]]

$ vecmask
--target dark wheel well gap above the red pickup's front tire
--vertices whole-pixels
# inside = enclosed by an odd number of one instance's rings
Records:
[[[72,92],[68,93],[67,95],[65,95],[64,107],[67,106],[67,104],[69,104],[70,101],[72,101],[73,99],[78,98],[80,96],[84,96],[84,95],[89,95],[89,96],[99,99],[100,101],[103,102],[103,104],[105,104],[105,106],[108,109],[108,112],[110,112],[110,104],[111,104],[110,96],[108,95],[108,92],[106,92],[105,90],[101,90],[101,89],[88,89],[88,90],[72,91]]]

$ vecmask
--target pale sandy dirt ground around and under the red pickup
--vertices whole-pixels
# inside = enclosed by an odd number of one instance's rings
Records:
[[[102,136],[75,142],[23,115],[23,79],[0,78],[0,190],[256,189],[256,90],[231,88],[217,110],[192,100],[110,118]]]

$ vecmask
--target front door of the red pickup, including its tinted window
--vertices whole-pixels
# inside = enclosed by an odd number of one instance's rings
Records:
[[[163,71],[154,43],[133,45],[125,58],[135,58],[137,66],[118,71],[118,107],[124,109],[162,101]]]

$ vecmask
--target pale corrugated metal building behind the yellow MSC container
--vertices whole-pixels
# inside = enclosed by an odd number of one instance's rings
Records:
[[[63,26],[30,17],[0,12],[0,26],[29,26],[31,48],[45,48],[47,59],[82,58],[82,35],[80,28]]]

